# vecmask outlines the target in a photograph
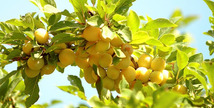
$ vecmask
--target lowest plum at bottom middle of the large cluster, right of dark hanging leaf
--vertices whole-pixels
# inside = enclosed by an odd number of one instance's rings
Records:
[[[103,87],[109,90],[114,89],[114,80],[110,79],[109,77],[105,77],[103,79]]]

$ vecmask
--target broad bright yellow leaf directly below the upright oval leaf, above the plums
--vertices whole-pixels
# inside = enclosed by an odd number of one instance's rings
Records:
[[[149,35],[145,31],[138,31],[133,34],[130,44],[143,44],[150,39]]]

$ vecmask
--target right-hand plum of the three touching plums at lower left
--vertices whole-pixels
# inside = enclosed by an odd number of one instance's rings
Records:
[[[45,65],[41,69],[41,75],[44,75],[44,74],[49,75],[54,72],[55,68],[56,68],[55,65],[50,65],[50,64]]]

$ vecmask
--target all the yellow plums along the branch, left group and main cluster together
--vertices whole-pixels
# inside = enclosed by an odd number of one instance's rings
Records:
[[[39,44],[48,42],[49,35],[46,30],[37,29],[34,35]],[[58,54],[59,58],[57,66],[65,68],[68,65],[76,64],[84,70],[84,78],[89,84],[94,84],[98,79],[102,79],[104,88],[116,90],[119,93],[119,82],[122,80],[122,76],[130,84],[130,88],[134,86],[136,80],[140,80],[144,85],[149,81],[163,85],[170,77],[170,73],[164,70],[166,62],[163,58],[153,58],[146,53],[139,58],[134,56],[132,46],[123,42],[118,35],[113,39],[103,37],[100,28],[88,26],[81,37],[86,42],[84,45],[77,45],[75,50],[67,48],[66,43],[60,43],[53,44],[58,47],[54,52]],[[113,58],[116,56],[114,48],[120,48],[125,55],[116,64],[113,63]],[[30,55],[32,50],[38,49],[33,48],[30,41],[26,42],[23,52]],[[93,68],[94,65],[97,66],[96,72]],[[42,57],[37,59],[30,57],[27,60],[25,74],[32,78],[40,72],[41,75],[51,74],[55,68],[56,65],[48,64]],[[180,86],[182,85],[174,87],[174,90],[179,92],[180,88],[185,88]]]

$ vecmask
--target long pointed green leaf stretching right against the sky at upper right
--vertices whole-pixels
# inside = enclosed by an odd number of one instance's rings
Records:
[[[158,29],[158,28],[166,28],[166,27],[177,27],[176,24],[173,24],[167,19],[164,18],[158,18],[152,21],[149,21],[145,26],[144,30],[150,30],[150,29]]]

